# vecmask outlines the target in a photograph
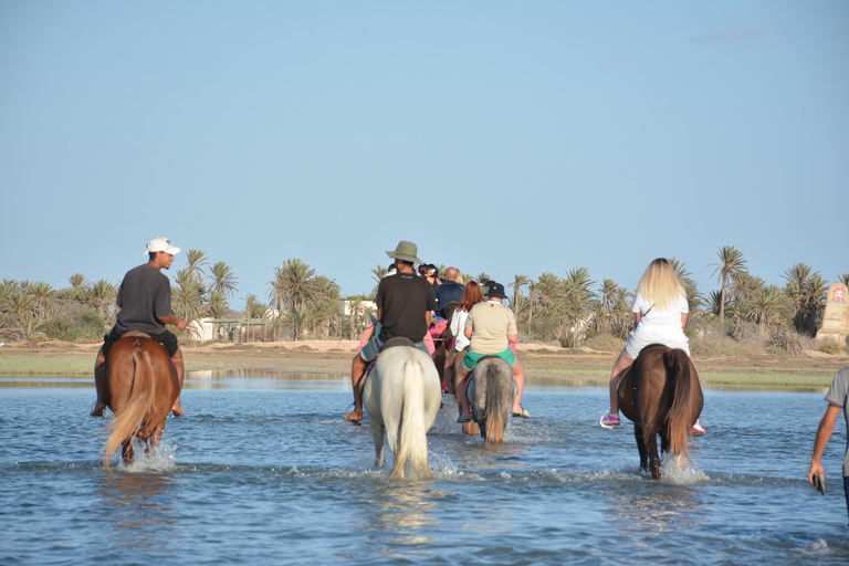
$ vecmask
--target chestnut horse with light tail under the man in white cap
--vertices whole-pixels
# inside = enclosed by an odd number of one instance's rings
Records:
[[[106,354],[106,406],[115,413],[104,428],[103,463],[122,447],[125,464],[133,463],[133,438],[155,447],[165,420],[180,396],[177,368],[165,347],[142,332],[128,332]]]

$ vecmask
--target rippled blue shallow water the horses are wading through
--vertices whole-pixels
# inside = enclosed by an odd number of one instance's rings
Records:
[[[189,416],[112,472],[93,399],[78,379],[0,380],[0,564],[849,563],[842,427],[828,495],[805,478],[821,392],[705,391],[694,463],[660,482],[630,424],[597,426],[601,388],[528,387],[534,418],[502,447],[442,409],[430,481],[373,469],[344,378],[190,376]]]

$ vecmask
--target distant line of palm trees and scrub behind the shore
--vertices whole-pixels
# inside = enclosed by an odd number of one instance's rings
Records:
[[[224,262],[210,265],[199,250],[186,252],[188,265],[176,272],[171,285],[175,314],[188,321],[200,318],[263,319],[274,327],[274,339],[357,338],[369,322],[369,300],[387,268],[371,270],[371,296],[343,297],[336,282],[300,259],[289,259],[273,269],[268,301],[247,294],[233,306],[238,280]],[[744,328],[756,328],[763,340],[793,350],[799,337],[814,336],[821,325],[829,282],[805,263],[784,273],[783,285],[750,273],[746,259],[734,247],[717,251],[719,290],[699,292],[683,262],[669,261],[686,291],[691,318],[719,321],[733,337]],[[438,266],[440,276],[447,268]],[[465,274],[464,282],[486,281],[486,273]],[[849,273],[839,281],[849,284]],[[610,279],[599,284],[585,268],[573,268],[558,276],[514,275],[507,283],[510,304],[525,342],[559,343],[576,347],[588,337],[607,335],[626,339],[632,329],[633,293]],[[87,281],[82,274],[69,277],[69,286],[56,290],[42,281],[3,280],[0,284],[0,338],[22,342],[34,338],[94,340],[115,323],[118,284]]]

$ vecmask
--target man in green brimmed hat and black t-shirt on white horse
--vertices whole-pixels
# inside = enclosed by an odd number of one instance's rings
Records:
[[[359,423],[363,420],[363,397],[360,396],[366,366],[373,361],[380,348],[391,338],[403,337],[430,356],[424,335],[430,327],[431,312],[437,310],[433,286],[419,277],[413,265],[421,263],[416,256],[418,248],[412,242],[401,241],[395,251],[386,254],[395,260],[397,273],[384,277],[377,285],[377,324],[371,339],[354,357],[350,368],[350,384],[354,387],[354,410],[345,420]]]

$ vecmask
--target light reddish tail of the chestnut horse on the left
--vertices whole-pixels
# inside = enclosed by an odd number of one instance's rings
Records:
[[[109,379],[119,378],[119,374],[125,368],[115,368]],[[128,369],[128,368],[126,368]],[[133,375],[130,376],[133,387],[129,399],[120,410],[115,413],[115,418],[104,428],[104,433],[108,433],[104,444],[103,463],[112,470],[112,457],[124,442],[133,438],[138,427],[148,418],[156,399],[156,379],[154,366],[150,360],[150,354],[136,347],[133,352]]]

